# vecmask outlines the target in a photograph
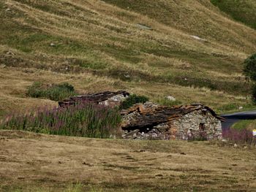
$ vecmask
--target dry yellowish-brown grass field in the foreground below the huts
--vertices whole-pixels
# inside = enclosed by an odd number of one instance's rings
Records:
[[[0,191],[255,191],[255,147],[0,131]]]

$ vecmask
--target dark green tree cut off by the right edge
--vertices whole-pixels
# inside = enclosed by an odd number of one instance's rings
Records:
[[[256,53],[244,61],[244,74],[252,81],[252,101],[256,104]]]

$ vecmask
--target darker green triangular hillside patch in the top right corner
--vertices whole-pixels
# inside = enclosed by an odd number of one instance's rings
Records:
[[[235,20],[256,29],[256,2],[254,0],[211,0],[211,3]]]

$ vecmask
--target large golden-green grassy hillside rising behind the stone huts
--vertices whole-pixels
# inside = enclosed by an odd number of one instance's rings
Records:
[[[249,105],[241,63],[256,50],[256,31],[210,1],[7,0],[0,21],[0,115],[56,104],[26,97],[35,80],[217,110]]]

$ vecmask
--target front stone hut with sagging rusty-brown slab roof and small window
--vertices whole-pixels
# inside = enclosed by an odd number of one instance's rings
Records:
[[[135,104],[121,112],[124,139],[221,139],[222,120],[203,104]]]

